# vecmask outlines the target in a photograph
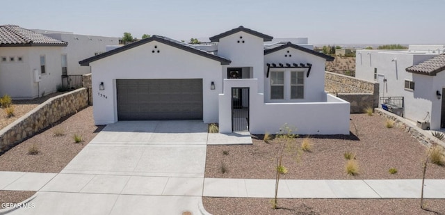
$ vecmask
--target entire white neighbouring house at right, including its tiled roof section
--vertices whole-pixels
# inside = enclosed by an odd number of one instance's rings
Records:
[[[408,50],[357,50],[355,77],[380,83],[380,97],[403,97],[403,116],[445,127],[445,45]],[[386,98],[385,98],[386,99]]]

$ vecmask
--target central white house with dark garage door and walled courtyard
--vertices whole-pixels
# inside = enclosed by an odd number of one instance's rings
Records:
[[[350,104],[324,91],[331,56],[239,26],[207,50],[159,35],[87,58],[96,125],[202,120],[220,132],[349,134]],[[216,48],[216,49],[215,49]]]

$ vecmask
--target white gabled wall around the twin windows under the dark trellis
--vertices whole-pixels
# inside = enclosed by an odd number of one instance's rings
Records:
[[[289,53],[287,53],[289,51]],[[289,57],[289,54],[291,57]],[[288,57],[285,57],[287,55]],[[309,77],[306,77],[308,68],[270,68],[270,72],[284,72],[284,99],[270,99],[270,74],[266,78],[266,63],[312,63],[312,69]],[[305,98],[290,99],[291,97],[291,72],[305,72]],[[275,51],[264,56],[264,101],[265,102],[321,102],[323,93],[325,92],[325,59],[307,54],[305,51],[293,49],[291,47]]]

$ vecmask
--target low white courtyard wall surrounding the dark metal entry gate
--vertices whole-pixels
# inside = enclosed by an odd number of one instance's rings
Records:
[[[287,123],[297,134],[349,134],[349,102],[327,93],[321,102],[264,103],[257,92],[257,79],[225,79],[224,93],[219,95],[219,126],[221,133],[232,132],[231,88],[250,88],[249,130],[251,134],[277,134]]]

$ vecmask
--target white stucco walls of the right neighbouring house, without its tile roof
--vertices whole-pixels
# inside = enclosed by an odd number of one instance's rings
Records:
[[[410,54],[407,51],[359,50],[355,63],[355,77],[373,81],[374,67],[377,67],[380,97],[403,96],[405,99],[405,118],[413,121],[430,120],[430,128],[439,129],[442,104],[435,96],[435,92],[439,90],[442,93],[440,85],[445,83],[444,74],[439,73],[437,77],[429,77],[423,74],[412,74],[405,70],[407,67],[434,56],[436,55]],[[392,61],[393,59],[396,59],[396,61]],[[387,83],[384,83],[383,79],[387,79]],[[405,89],[405,80],[414,81],[414,90]],[[428,112],[430,115],[427,117]]]

